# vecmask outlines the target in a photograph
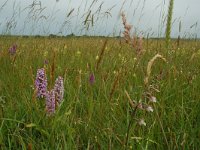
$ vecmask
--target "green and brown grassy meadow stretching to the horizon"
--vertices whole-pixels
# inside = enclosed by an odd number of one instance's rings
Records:
[[[117,38],[0,37],[0,149],[198,149],[200,41],[174,40],[166,50],[164,40],[145,39],[143,49],[137,56]],[[144,84],[156,54],[166,62],[155,60]],[[64,101],[52,116],[34,96],[42,67],[49,89],[64,77]],[[131,116],[125,91],[137,103],[148,103],[146,93],[156,97],[153,112]]]

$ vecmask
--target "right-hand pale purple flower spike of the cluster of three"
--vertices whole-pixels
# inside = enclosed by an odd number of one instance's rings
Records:
[[[60,104],[64,96],[64,84],[63,84],[63,78],[61,76],[59,76],[56,79],[54,91],[55,91],[56,101]]]

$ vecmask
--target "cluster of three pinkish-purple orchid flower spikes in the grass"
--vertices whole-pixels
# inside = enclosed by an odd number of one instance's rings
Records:
[[[45,98],[47,113],[49,115],[55,113],[56,106],[60,105],[64,96],[63,78],[59,76],[55,81],[54,88],[48,91],[45,69],[38,69],[35,80],[35,89],[38,98]]]

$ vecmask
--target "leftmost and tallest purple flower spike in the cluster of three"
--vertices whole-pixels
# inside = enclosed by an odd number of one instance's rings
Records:
[[[45,75],[45,69],[41,68],[37,70],[37,76],[35,80],[35,88],[37,90],[37,97],[43,98],[47,92],[47,77]]]

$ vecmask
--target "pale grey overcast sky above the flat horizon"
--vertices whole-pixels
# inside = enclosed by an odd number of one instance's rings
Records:
[[[163,37],[169,0],[0,0],[0,33]],[[171,36],[200,37],[200,0],[174,0]]]

